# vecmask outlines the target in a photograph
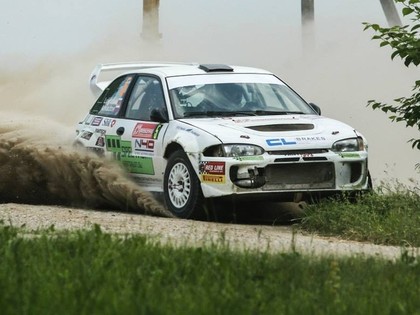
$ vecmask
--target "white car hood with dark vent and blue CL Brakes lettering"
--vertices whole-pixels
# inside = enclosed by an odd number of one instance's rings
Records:
[[[340,139],[361,136],[340,121],[318,115],[284,115],[183,119],[182,122],[210,133],[223,143],[257,144],[266,150],[329,148]]]

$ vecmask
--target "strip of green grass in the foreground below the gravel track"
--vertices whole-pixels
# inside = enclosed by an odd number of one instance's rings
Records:
[[[419,260],[173,248],[0,224],[2,314],[420,314]]]

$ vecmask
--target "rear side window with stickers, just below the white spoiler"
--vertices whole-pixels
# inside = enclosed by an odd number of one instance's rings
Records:
[[[117,116],[134,75],[115,79],[101,94],[91,109],[93,115]]]

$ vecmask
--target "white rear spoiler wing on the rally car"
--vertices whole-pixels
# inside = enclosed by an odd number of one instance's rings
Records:
[[[89,78],[89,87],[93,95],[97,98],[102,92],[106,89],[106,87],[111,83],[111,81],[116,77],[115,73],[122,74],[124,72],[130,70],[141,70],[147,68],[157,68],[157,67],[170,67],[175,65],[187,65],[185,63],[148,63],[148,62],[140,62],[140,63],[106,63],[106,64],[98,64],[92,71],[90,78]],[[189,64],[189,65],[196,65],[196,64]],[[99,76],[103,76],[104,73],[114,72],[114,76],[112,80],[100,80]]]

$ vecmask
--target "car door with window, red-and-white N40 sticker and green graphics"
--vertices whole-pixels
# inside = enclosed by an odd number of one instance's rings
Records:
[[[140,186],[162,191],[167,123],[151,119],[153,109],[166,108],[162,84],[159,78],[148,75],[137,75],[134,80],[123,112],[107,132],[106,149]]]

